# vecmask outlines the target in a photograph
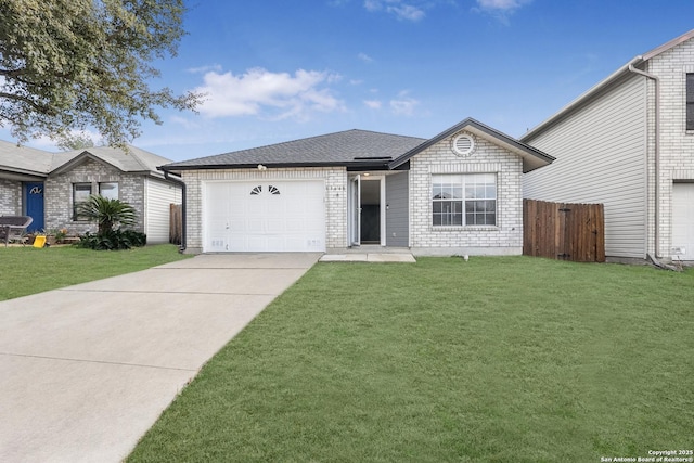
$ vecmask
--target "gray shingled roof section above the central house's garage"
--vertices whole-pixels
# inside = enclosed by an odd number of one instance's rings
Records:
[[[165,170],[266,166],[344,166],[387,164],[425,142],[416,137],[347,130],[268,146],[242,150],[216,156],[182,160],[164,166]]]

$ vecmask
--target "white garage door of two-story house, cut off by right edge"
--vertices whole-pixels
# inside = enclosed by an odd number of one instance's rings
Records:
[[[694,183],[672,184],[672,257],[694,260]]]

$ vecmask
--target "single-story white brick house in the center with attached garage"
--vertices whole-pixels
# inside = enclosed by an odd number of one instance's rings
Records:
[[[520,254],[523,172],[543,152],[474,119],[429,140],[349,130],[168,164],[188,253]]]

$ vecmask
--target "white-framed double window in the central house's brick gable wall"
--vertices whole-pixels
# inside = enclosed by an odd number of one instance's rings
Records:
[[[432,176],[434,227],[496,226],[494,173]]]

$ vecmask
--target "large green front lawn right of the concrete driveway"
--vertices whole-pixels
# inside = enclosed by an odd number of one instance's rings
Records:
[[[596,462],[694,447],[694,272],[319,263],[129,462]]]

